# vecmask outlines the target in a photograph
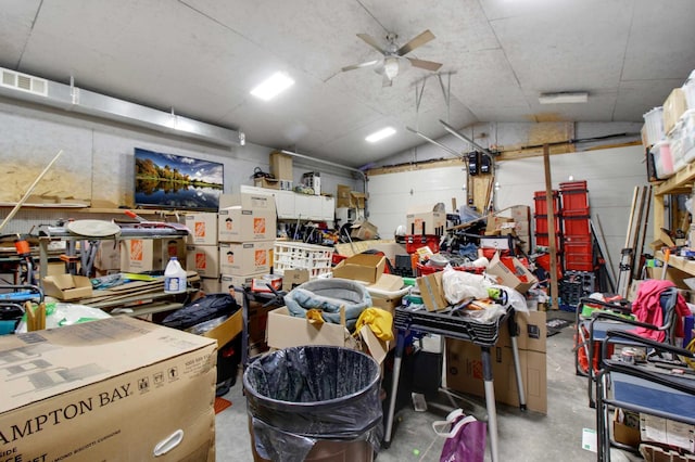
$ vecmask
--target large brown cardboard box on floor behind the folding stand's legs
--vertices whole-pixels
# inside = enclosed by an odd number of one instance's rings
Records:
[[[519,395],[510,347],[491,348],[495,400],[519,406]],[[547,413],[547,375],[544,352],[519,350],[521,380],[527,408]],[[485,396],[480,346],[467,341],[446,338],[446,386],[453,390]]]

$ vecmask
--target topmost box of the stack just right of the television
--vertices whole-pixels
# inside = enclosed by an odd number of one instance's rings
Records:
[[[275,197],[266,194],[225,194],[219,209],[219,242],[271,241],[277,234]]]

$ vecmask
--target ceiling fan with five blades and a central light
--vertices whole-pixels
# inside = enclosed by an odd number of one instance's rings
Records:
[[[425,30],[404,46],[399,47],[396,40],[399,36],[394,33],[387,34],[387,46],[382,48],[379,42],[368,34],[357,34],[357,37],[363,39],[367,44],[371,46],[379,53],[383,54],[383,57],[379,60],[367,61],[365,63],[353,64],[342,68],[343,72],[359,69],[363,67],[375,67],[375,70],[379,74],[383,74],[383,86],[389,87],[395,76],[403,73],[409,66],[419,67],[421,69],[437,72],[442,67],[441,63],[433,61],[417,60],[415,57],[408,57],[406,54],[412,52],[418,47],[424,46],[430,40],[434,39],[434,34],[429,29]]]

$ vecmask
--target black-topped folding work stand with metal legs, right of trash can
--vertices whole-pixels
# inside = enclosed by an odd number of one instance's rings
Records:
[[[389,401],[389,412],[387,414],[387,427],[383,439],[386,447],[390,446],[392,438],[391,433],[393,431],[393,419],[399,392],[403,350],[405,349],[405,338],[409,331],[414,331],[425,334],[439,334],[443,337],[467,341],[480,346],[485,389],[485,406],[488,409],[488,434],[490,435],[492,461],[496,462],[500,460],[497,451],[497,411],[495,406],[495,390],[493,387],[490,349],[497,343],[502,324],[507,322],[511,336],[511,350],[514,356],[514,370],[517,380],[517,389],[519,392],[519,405],[522,410],[526,410],[526,394],[523,381],[521,378],[515,315],[516,311],[511,306],[509,306],[507,307],[504,316],[500,317],[497,320],[492,322],[478,322],[471,318],[456,315],[451,308],[442,311],[427,311],[425,308],[419,306],[417,308],[395,308],[394,326],[397,329],[397,336],[394,351],[395,359],[393,362],[391,399]]]

